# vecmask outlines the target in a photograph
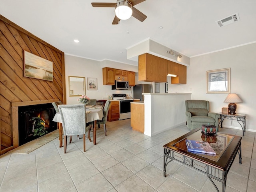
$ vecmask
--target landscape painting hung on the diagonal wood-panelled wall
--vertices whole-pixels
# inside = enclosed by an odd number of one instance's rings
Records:
[[[53,81],[53,62],[24,50],[24,77]]]

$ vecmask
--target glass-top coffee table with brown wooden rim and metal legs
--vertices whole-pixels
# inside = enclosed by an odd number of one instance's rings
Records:
[[[230,134],[217,134],[217,136],[205,136],[201,133],[201,129],[195,129],[176,140],[165,144],[164,177],[166,177],[166,166],[168,163],[172,160],[177,160],[200,172],[204,172],[217,191],[219,190],[212,179],[222,182],[222,192],[225,192],[227,174],[237,153],[239,155],[239,163],[242,163],[242,137]],[[186,139],[207,141],[216,152],[216,155],[188,152],[185,142]]]

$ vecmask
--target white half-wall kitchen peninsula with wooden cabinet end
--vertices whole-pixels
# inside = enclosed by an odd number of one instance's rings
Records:
[[[144,105],[143,103],[134,103],[132,105],[144,106],[144,134],[148,136],[154,136],[165,130],[168,130],[174,126],[178,126],[186,123],[186,107],[185,100],[191,99],[191,93],[144,93]],[[141,108],[141,106],[139,106]],[[134,114],[137,113],[137,114]],[[132,118],[140,117],[142,115],[138,114],[140,110],[131,110],[131,126],[134,129],[133,121],[138,119]],[[142,126],[142,125],[140,125]],[[138,128],[135,128],[135,130]],[[140,130],[143,130],[142,127]],[[138,131],[140,131],[138,130]]]

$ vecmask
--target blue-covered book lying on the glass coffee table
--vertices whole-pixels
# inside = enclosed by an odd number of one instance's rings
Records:
[[[212,149],[212,146],[210,146],[208,142],[186,139],[186,145],[188,151],[216,155],[216,152]]]

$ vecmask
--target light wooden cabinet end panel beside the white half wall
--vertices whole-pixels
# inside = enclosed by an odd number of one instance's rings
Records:
[[[132,130],[144,133],[144,103],[131,102],[131,127]]]

